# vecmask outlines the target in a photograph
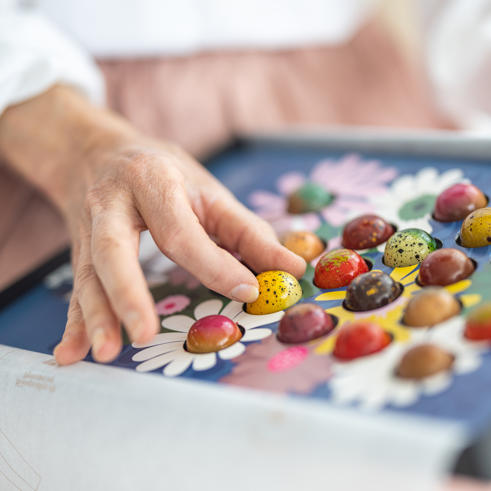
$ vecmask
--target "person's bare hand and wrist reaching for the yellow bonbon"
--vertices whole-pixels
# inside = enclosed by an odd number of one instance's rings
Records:
[[[19,138],[12,127],[27,119],[31,134]],[[120,323],[138,343],[159,331],[137,259],[139,234],[147,228],[167,257],[233,300],[255,300],[257,280],[210,235],[254,271],[278,269],[299,278],[305,271],[305,261],[278,243],[272,227],[186,152],[141,136],[71,89],[57,87],[8,109],[0,118],[2,150],[52,197],[69,224],[75,282],[54,352],[60,364],[83,359],[90,347],[96,360],[114,359],[122,346]]]

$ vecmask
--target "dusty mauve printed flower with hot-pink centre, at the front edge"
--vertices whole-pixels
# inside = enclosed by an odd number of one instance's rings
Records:
[[[329,357],[314,355],[312,348],[308,343],[292,346],[270,336],[248,345],[246,353],[234,359],[232,372],[220,382],[308,394],[331,377]]]

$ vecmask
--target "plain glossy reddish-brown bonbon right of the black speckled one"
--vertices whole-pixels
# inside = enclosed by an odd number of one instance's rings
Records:
[[[437,249],[425,257],[419,268],[421,286],[447,286],[474,273],[474,263],[464,252],[447,247]]]

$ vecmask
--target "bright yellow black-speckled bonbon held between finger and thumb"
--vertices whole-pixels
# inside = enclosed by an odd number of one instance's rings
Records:
[[[252,315],[265,315],[279,312],[302,298],[299,282],[285,271],[265,271],[256,276],[259,283],[259,297],[247,303],[246,311]]]

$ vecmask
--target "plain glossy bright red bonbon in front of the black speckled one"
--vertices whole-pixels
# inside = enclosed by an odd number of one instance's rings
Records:
[[[371,355],[385,348],[392,338],[378,324],[359,321],[343,327],[339,331],[334,346],[334,356],[352,360]]]

